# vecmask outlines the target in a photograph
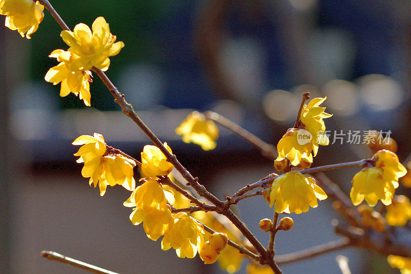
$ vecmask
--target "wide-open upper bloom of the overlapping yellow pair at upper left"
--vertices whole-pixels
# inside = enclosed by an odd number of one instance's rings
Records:
[[[110,59],[117,55],[123,42],[116,42],[116,36],[110,33],[110,28],[103,17],[97,17],[90,28],[81,23],[74,27],[74,31],[63,30],[60,34],[63,41],[69,46],[68,51],[60,54],[71,71],[89,70],[93,66],[103,71],[108,69]]]

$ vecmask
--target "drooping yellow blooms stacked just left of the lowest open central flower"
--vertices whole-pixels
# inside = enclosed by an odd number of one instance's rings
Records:
[[[146,178],[124,202],[126,207],[136,207],[130,214],[130,221],[134,225],[143,223],[147,237],[157,241],[173,224],[171,210],[167,207],[165,191],[161,184],[152,178]]]

